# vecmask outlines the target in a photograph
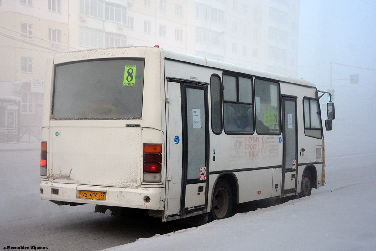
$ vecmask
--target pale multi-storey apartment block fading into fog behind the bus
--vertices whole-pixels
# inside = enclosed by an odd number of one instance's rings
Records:
[[[298,27],[299,0],[0,0],[0,127],[40,125],[55,53],[159,45],[296,76]]]

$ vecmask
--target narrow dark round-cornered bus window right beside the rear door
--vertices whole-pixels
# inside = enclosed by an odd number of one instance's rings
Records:
[[[210,78],[211,119],[214,134],[222,133],[222,85],[218,75]]]

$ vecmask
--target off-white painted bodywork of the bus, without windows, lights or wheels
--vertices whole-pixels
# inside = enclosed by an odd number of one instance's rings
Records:
[[[111,58],[143,58],[145,60],[144,68],[147,69],[147,74],[140,77],[143,79],[142,117],[61,120],[51,116],[54,65]],[[312,146],[317,145],[319,149],[322,148],[322,140],[305,137],[303,128],[303,96],[315,97],[316,88],[311,82],[159,48],[94,49],[55,55],[47,63],[42,141],[47,142],[49,155],[46,158],[47,167],[44,169],[41,167],[41,174],[44,174],[41,176],[41,190],[45,191],[41,193],[41,198],[51,201],[159,210],[162,211],[159,217],[167,221],[182,217],[183,206],[189,209],[205,203],[205,208],[201,213],[210,211],[215,184],[225,170],[236,171],[233,172],[237,180],[235,186],[238,186],[234,187],[237,190],[234,196],[236,203],[280,196],[281,186],[275,187],[274,184],[283,184],[282,133],[258,135],[255,130],[250,135],[225,134],[224,132],[221,135],[215,135],[211,130],[211,119],[208,119],[207,125],[210,128],[207,153],[208,182],[200,183],[200,185],[203,184],[203,191],[206,191],[205,197],[203,193],[200,195],[200,192],[197,195],[197,187],[195,187],[197,184],[194,186],[186,184],[188,192],[185,198],[181,196],[182,143],[179,145],[173,140],[176,136],[183,139],[180,98],[182,93],[180,93],[179,79],[205,85],[205,83],[210,83],[213,74],[222,78],[224,72],[248,76],[253,82],[255,77],[279,82],[280,94],[297,97],[297,128],[299,130],[297,146],[299,149],[305,147],[307,150],[300,156],[298,154],[296,193],[300,192],[305,166],[314,165],[316,171],[313,176],[320,177],[322,169],[320,161],[323,159],[319,158],[320,156],[316,158],[315,154],[319,151],[313,149]],[[169,82],[169,78],[170,80],[171,78],[178,79],[178,81]],[[210,87],[207,96],[210,106]],[[174,115],[179,112],[179,116]],[[211,118],[210,108],[206,116]],[[139,126],[126,127],[127,124]],[[143,181],[143,144],[162,145],[160,182]],[[255,148],[264,148],[268,151],[252,151]],[[215,161],[214,151],[217,157]],[[314,161],[319,163],[309,164]],[[305,166],[299,167],[300,163],[304,163]],[[265,166],[276,168],[259,168]],[[252,170],[253,168],[255,170]],[[250,170],[252,172],[249,172]],[[285,182],[287,181],[285,177]],[[321,184],[316,182],[313,187],[318,186]],[[59,193],[52,194],[53,188],[59,188]],[[106,198],[102,200],[80,198],[80,191],[106,192]],[[151,198],[150,202],[146,202],[146,196]],[[183,200],[191,202],[182,205]],[[171,217],[167,218],[167,216]]]

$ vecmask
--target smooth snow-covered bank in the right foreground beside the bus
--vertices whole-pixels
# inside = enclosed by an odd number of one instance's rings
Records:
[[[376,154],[326,164],[310,197],[105,250],[376,250]]]

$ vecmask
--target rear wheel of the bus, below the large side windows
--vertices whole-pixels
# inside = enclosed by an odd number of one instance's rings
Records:
[[[232,202],[230,184],[226,180],[218,180],[213,192],[210,220],[229,217],[232,211]]]

